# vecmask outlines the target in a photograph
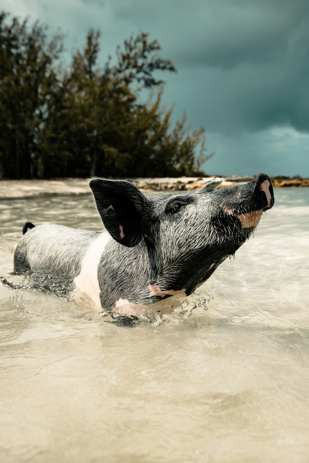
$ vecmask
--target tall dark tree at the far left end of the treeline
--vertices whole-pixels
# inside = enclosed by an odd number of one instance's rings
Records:
[[[53,62],[62,51],[62,35],[47,41],[46,26],[0,13],[0,131],[6,175],[30,178],[31,156],[38,150],[42,125],[58,86]]]

